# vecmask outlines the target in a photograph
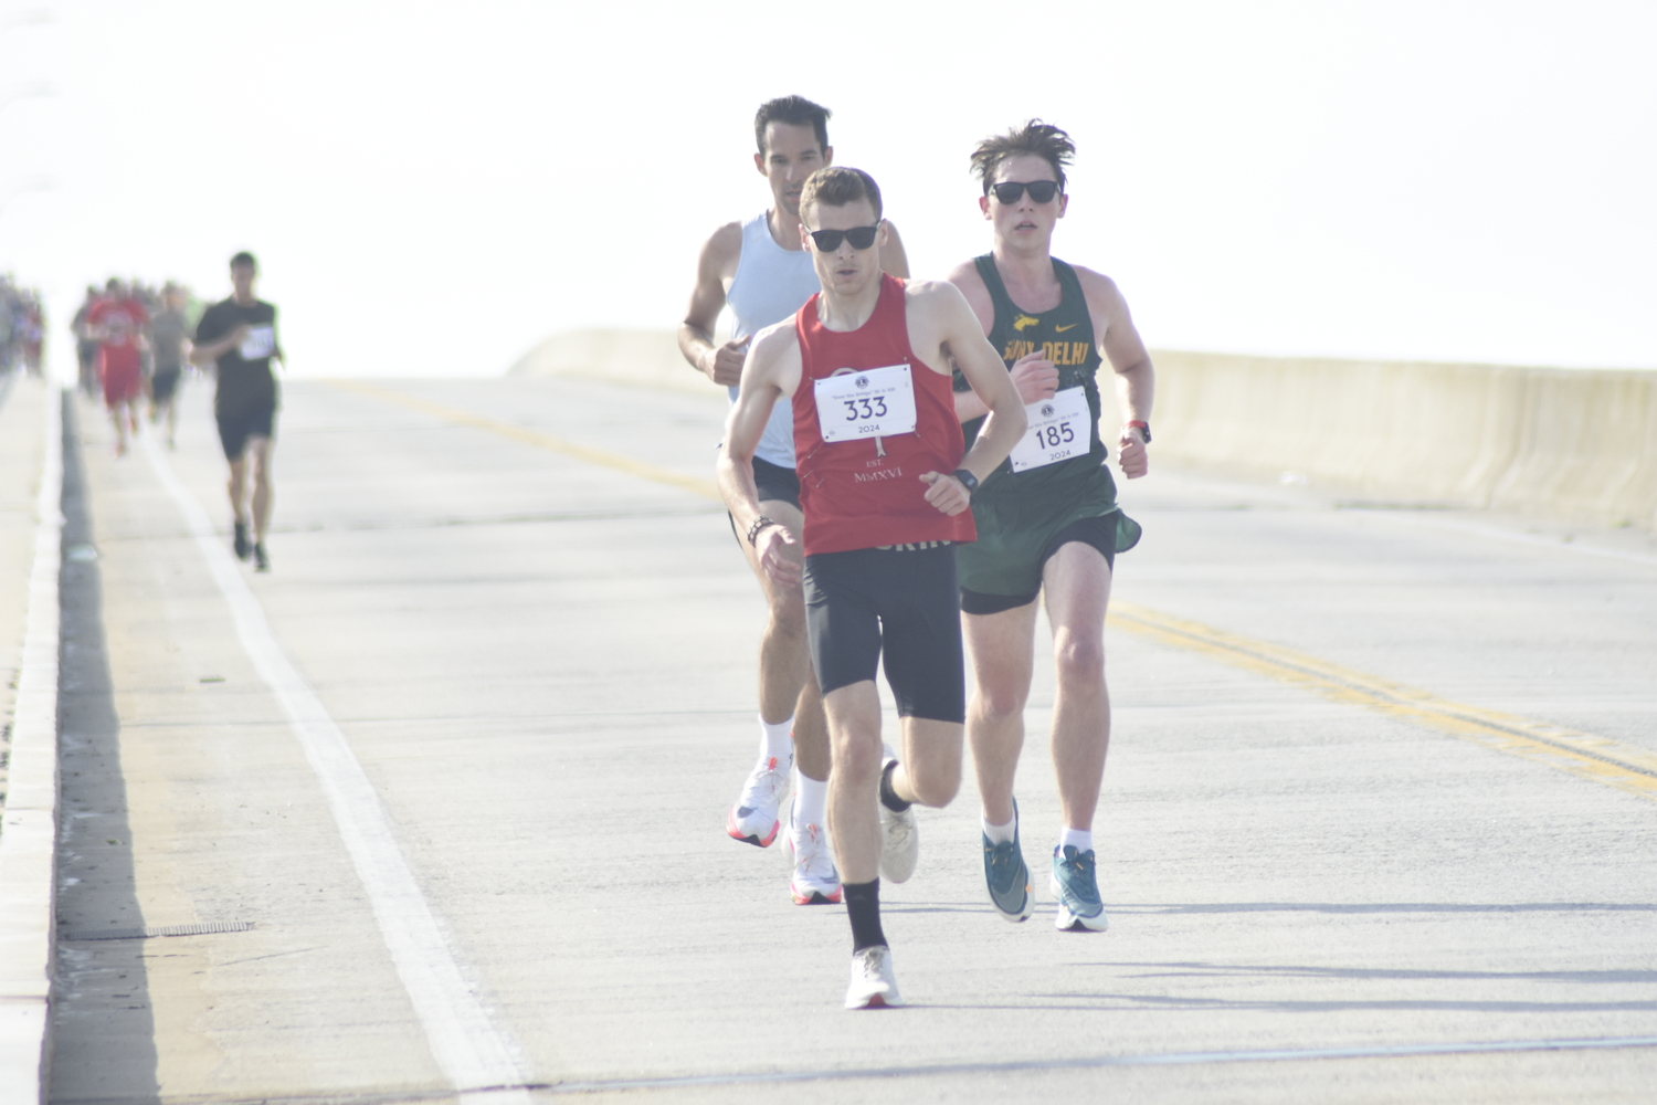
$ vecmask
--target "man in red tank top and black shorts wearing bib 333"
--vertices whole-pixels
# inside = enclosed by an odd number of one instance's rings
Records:
[[[971,490],[1022,437],[1024,403],[959,290],[882,278],[886,230],[867,172],[812,174],[800,234],[824,290],[756,335],[719,487],[766,573],[800,578],[785,553],[794,537],[759,510],[751,464],[772,406],[792,398],[805,616],[833,749],[828,832],[852,921],[845,1004],[870,1009],[903,1004],[880,926],[880,875],[901,883],[915,870],[911,803],[946,805],[961,785],[954,542],[973,538]],[[966,456],[951,364],[989,409]],[[882,755],[882,654],[903,722],[901,762]]]

